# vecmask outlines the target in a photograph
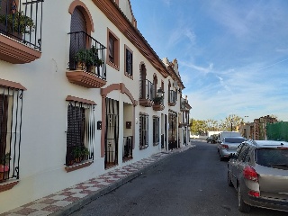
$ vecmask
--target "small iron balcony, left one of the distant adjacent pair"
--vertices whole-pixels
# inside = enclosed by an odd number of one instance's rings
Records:
[[[140,80],[140,89],[139,89],[139,104],[141,106],[151,107],[153,106],[153,98],[155,95],[154,85],[148,81],[148,79]]]

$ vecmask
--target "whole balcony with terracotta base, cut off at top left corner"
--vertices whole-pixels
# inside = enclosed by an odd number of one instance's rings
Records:
[[[44,0],[0,1],[0,59],[29,63],[40,58]]]

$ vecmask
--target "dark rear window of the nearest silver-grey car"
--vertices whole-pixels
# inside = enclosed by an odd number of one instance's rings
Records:
[[[288,148],[258,148],[258,165],[288,170]]]

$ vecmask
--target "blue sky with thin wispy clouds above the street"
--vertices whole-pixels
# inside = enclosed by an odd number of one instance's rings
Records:
[[[288,121],[287,0],[130,0],[159,58],[177,58],[197,120]]]

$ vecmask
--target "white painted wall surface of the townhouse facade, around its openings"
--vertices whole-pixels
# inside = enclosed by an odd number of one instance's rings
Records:
[[[66,76],[69,50],[70,18],[68,7],[72,0],[58,1],[49,0],[43,3],[42,23],[42,55],[40,59],[29,64],[14,65],[0,61],[2,79],[21,83],[27,88],[23,94],[23,130],[21,143],[20,182],[13,189],[0,193],[0,213],[9,211],[27,202],[34,201],[50,193],[58,192],[71,185],[78,184],[87,179],[101,175],[104,158],[101,157],[101,130],[95,130],[94,163],[80,170],[70,173],[65,171],[66,157],[66,130],[67,130],[67,95],[92,100],[97,105],[94,112],[96,121],[101,121],[102,96],[100,89],[89,89],[68,82]],[[130,98],[119,91],[112,91],[107,97],[119,101],[120,118],[119,125],[119,166],[121,163],[122,137],[130,134],[125,129],[125,121],[132,121],[135,128],[135,149],[132,163],[144,157],[159,152],[160,144],[153,147],[153,115],[159,117],[161,113],[168,113],[168,109],[179,111],[180,103],[174,107],[167,104],[166,79],[148,62],[145,56],[127,40],[104,14],[90,0],[83,0],[92,15],[94,21],[94,39],[107,46],[107,28],[112,30],[120,39],[120,70],[107,65],[107,84],[123,83],[133,95],[139,100],[139,64],[144,61],[148,75],[147,79],[153,82],[153,74],[157,74],[158,86],[164,80],[166,92],[165,110],[154,111],[151,107],[146,108],[137,105],[135,107],[135,118],[132,119],[132,106],[123,109],[123,103],[130,103]],[[123,4],[126,2],[126,4]],[[120,1],[121,8],[126,8],[128,1]],[[57,5],[57,6],[56,6]],[[52,14],[52,15],[51,15]],[[127,15],[129,18],[130,13]],[[133,80],[124,76],[124,44],[133,50]],[[179,101],[178,95],[178,101]],[[149,115],[149,147],[139,150],[139,112]],[[162,120],[160,119],[160,122]],[[160,124],[161,126],[161,124]],[[160,129],[161,131],[161,129]]]

